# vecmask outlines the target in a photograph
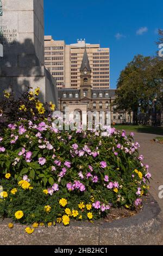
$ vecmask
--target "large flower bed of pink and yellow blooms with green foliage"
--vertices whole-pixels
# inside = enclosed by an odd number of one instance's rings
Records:
[[[151,174],[133,133],[59,131],[52,121],[23,118],[1,132],[1,218],[32,224],[32,234],[39,224],[99,220],[112,207],[141,205]]]

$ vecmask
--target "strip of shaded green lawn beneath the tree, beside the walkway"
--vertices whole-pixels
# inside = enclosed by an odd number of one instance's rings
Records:
[[[125,130],[131,132],[141,132],[141,133],[152,133],[156,135],[163,136],[163,127],[155,126],[142,126],[142,125],[114,125],[117,130]]]

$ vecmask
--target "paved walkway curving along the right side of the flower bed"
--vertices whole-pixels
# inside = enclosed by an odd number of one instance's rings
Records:
[[[149,165],[149,172],[152,173],[150,192],[155,200],[159,203],[163,217],[163,199],[159,199],[159,186],[163,185],[163,144],[152,142],[156,135],[147,133],[136,133],[135,141],[141,145],[140,154],[144,156],[144,163]],[[163,245],[163,230],[162,242]]]

